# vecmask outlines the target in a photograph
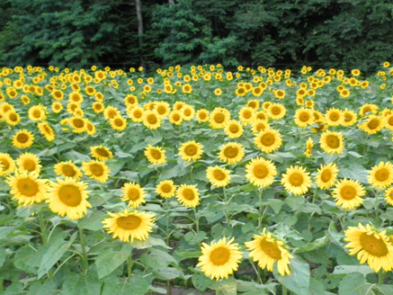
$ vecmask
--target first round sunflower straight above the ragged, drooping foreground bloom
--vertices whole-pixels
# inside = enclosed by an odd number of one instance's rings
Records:
[[[251,162],[246,165],[246,179],[258,187],[272,184],[276,174],[277,170],[272,161],[262,156],[251,159]]]

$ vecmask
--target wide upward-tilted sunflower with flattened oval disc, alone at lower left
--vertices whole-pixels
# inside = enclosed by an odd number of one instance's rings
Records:
[[[134,239],[146,241],[148,233],[152,232],[155,214],[130,211],[128,209],[120,213],[107,212],[111,217],[103,219],[103,228],[108,234],[113,234],[112,238],[119,237],[123,242],[134,242]]]

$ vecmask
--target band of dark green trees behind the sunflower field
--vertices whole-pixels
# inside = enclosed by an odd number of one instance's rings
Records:
[[[9,66],[365,71],[393,56],[389,0],[2,0],[0,13],[1,62]]]

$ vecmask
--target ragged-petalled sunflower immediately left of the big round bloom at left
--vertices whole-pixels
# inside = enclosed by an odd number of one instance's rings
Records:
[[[39,175],[36,172],[15,172],[14,176],[9,176],[6,183],[11,187],[12,200],[22,206],[45,200],[48,185],[46,180],[38,179]]]

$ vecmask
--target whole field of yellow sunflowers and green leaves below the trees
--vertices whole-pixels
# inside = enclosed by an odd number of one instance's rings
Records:
[[[0,72],[3,294],[393,294],[393,67]]]

